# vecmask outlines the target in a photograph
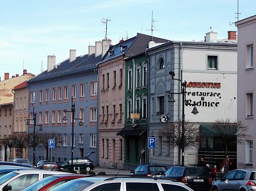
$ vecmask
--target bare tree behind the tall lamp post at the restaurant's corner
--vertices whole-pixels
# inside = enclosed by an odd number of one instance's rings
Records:
[[[165,141],[167,144],[179,147],[179,164],[180,164],[180,152],[182,148],[182,121],[175,121],[168,123],[164,126],[163,130],[159,132],[163,137],[166,137]],[[194,123],[185,121],[184,123],[184,147],[191,148],[198,145],[199,141],[199,128]]]

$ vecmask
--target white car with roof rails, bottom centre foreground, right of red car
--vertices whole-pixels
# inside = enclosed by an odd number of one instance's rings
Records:
[[[193,191],[184,183],[164,180],[163,178],[151,177],[87,177],[69,181],[52,191],[157,191],[157,190],[180,190]]]

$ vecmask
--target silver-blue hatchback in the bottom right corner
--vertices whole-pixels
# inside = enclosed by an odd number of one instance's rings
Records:
[[[256,169],[236,169],[212,185],[212,191],[256,191]]]

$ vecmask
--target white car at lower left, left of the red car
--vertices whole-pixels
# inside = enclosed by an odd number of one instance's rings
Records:
[[[67,172],[44,171],[38,169],[12,171],[0,178],[0,190],[22,190],[36,181],[54,174],[67,174]]]

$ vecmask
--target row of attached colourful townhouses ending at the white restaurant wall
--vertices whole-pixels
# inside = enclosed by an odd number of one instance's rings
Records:
[[[239,32],[239,39],[243,35]],[[89,46],[83,56],[70,50],[69,59],[59,64],[55,56],[48,56],[47,70],[35,77],[24,72],[19,83],[12,82],[7,88],[8,80],[20,77],[4,79],[0,88],[10,92],[0,95],[1,160],[28,157],[37,162],[51,157],[63,162],[72,155],[86,157],[95,151],[90,159],[100,167],[170,166],[180,164],[180,158],[184,164],[195,165],[198,157],[220,165],[225,151],[212,136],[213,124],[218,119],[236,121],[237,96],[242,100],[239,108],[250,108],[252,102],[245,101],[244,92],[237,95],[236,31],[228,31],[224,40],[217,37],[209,31],[200,42],[170,41],[140,33],[116,45],[102,40]],[[253,66],[247,70],[252,71]],[[246,91],[246,99],[253,99],[252,89]],[[191,113],[193,109],[198,114]],[[184,148],[181,157],[180,148],[171,144],[163,130],[184,118],[196,127],[201,139]],[[253,114],[248,118],[252,121]],[[6,139],[20,134],[34,135],[33,146],[9,147]],[[35,140],[38,135],[45,139]],[[156,140],[154,148],[148,149],[148,137]],[[49,139],[55,140],[51,156]],[[246,146],[250,148],[252,142],[246,141]],[[252,166],[253,152],[249,158],[241,158],[247,154],[237,157],[240,146],[230,144],[228,155],[234,164]]]

